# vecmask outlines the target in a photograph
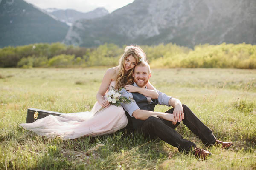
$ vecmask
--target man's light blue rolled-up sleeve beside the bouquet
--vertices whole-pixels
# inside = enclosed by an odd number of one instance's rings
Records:
[[[133,99],[133,96],[130,92],[128,92],[126,90],[122,90],[120,92],[121,92],[122,96],[124,96],[128,99]],[[130,103],[121,103],[121,106],[125,109],[125,111],[127,111],[129,113],[129,115],[131,117],[133,117],[132,114],[134,113],[135,110],[140,109],[139,106],[134,101],[134,99]]]

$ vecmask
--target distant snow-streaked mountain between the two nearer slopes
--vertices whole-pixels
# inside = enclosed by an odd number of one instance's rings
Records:
[[[103,17],[108,14],[108,11],[104,7],[99,7],[94,9],[93,11],[86,13],[79,12],[73,9],[61,10],[56,8],[48,8],[46,9],[46,11],[58,18],[59,20],[68,23],[70,26],[72,25],[72,23],[79,19],[93,19]]]

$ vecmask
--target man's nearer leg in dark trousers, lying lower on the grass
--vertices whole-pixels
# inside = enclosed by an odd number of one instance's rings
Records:
[[[150,116],[142,124],[140,130],[145,136],[149,135],[151,139],[157,136],[168,144],[177,147],[179,151],[189,152],[196,147],[193,142],[183,139],[180,133],[166,125],[159,116]]]

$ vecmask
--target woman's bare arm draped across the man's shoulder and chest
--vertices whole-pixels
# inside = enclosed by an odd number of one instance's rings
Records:
[[[150,82],[147,83],[147,89],[135,87],[133,85],[126,85],[125,90],[131,93],[138,92],[140,94],[143,94],[144,96],[151,97],[152,99],[158,99],[158,93],[154,86],[150,84]]]

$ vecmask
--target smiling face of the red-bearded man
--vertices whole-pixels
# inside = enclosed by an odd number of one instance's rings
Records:
[[[134,82],[141,88],[145,88],[145,85],[148,83],[149,78],[151,77],[151,73],[148,71],[148,67],[146,66],[136,66],[134,68]]]

